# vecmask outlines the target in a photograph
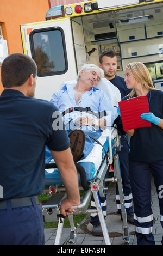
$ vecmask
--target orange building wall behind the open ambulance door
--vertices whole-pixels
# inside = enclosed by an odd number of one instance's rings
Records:
[[[20,25],[45,20],[51,7],[49,0],[0,0],[0,25],[8,52],[23,53]],[[1,67],[0,67],[1,73]],[[0,82],[0,94],[3,90]]]

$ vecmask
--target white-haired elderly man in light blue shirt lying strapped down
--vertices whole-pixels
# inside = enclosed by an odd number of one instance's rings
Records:
[[[96,88],[103,77],[101,68],[85,64],[75,86],[65,84],[51,97],[51,102],[63,114],[75,162],[91,152],[95,142],[91,137],[98,139],[103,129],[115,120],[109,97]]]

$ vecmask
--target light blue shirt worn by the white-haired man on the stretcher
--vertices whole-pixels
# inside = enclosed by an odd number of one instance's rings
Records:
[[[61,90],[58,90],[52,95],[51,102],[54,103],[61,113],[71,107],[90,107],[91,111],[96,113],[106,111],[107,116],[102,117],[106,120],[106,126],[112,125],[115,120],[114,110],[109,97],[102,90],[99,90],[96,87],[93,87],[91,90],[87,90],[80,100],[76,102],[73,86],[67,86],[65,84]],[[87,115],[84,112],[82,113],[78,111],[78,116]],[[70,121],[73,117],[74,112],[64,115],[64,122],[68,120]]]

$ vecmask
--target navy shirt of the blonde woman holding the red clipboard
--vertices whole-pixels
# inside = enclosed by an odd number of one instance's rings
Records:
[[[149,112],[163,119],[163,91],[151,90],[147,96]],[[134,95],[134,97],[137,97],[137,95]],[[162,161],[163,129],[155,124],[152,124],[151,127],[135,129],[134,135],[130,138],[129,160],[144,163]]]

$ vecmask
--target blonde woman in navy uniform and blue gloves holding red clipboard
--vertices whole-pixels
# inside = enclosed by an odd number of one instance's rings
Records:
[[[152,126],[126,132],[131,136],[129,173],[137,245],[155,245],[152,234],[151,176],[153,173],[163,227],[163,91],[154,88],[148,69],[141,62],[126,66],[124,81],[132,91],[123,100],[148,96],[149,113],[141,114],[141,118],[151,122]],[[117,112],[120,114],[120,109]],[[161,243],[163,245],[163,237]]]

